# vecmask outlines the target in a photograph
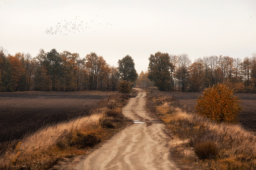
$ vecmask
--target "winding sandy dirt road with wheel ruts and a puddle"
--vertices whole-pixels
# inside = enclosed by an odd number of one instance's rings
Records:
[[[178,169],[169,159],[170,139],[164,125],[144,110],[146,92],[141,89],[122,109],[134,124],[116,134],[82,159],[75,169]]]

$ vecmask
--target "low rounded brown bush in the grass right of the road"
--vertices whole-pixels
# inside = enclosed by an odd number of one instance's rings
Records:
[[[218,155],[220,149],[216,143],[208,140],[195,144],[194,151],[199,159],[212,159]]]

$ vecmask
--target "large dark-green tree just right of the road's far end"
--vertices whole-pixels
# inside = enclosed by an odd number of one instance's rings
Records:
[[[170,89],[170,70],[172,68],[168,53],[157,52],[149,57],[148,78],[161,91]]]

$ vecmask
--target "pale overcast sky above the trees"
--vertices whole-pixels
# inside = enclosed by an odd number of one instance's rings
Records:
[[[71,22],[76,30],[64,28]],[[158,51],[186,53],[191,61],[256,51],[255,0],[0,0],[0,24],[0,46],[12,55],[95,52],[114,66],[130,55],[138,73]]]

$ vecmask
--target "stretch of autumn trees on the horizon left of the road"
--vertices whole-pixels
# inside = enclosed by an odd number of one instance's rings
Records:
[[[111,90],[119,80],[134,82],[138,74],[134,60],[127,55],[110,66],[96,53],[80,58],[78,53],[55,49],[32,58],[27,53],[5,54],[0,48],[0,91],[80,91]],[[125,68],[125,69],[123,69]]]

